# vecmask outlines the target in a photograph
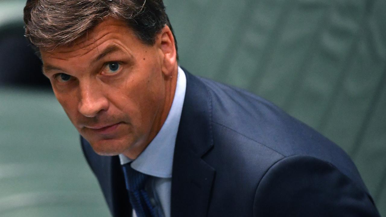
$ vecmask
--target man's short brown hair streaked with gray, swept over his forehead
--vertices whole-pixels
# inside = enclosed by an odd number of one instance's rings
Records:
[[[43,49],[67,45],[108,16],[124,20],[144,44],[154,44],[165,25],[173,33],[162,0],[27,0],[25,36]]]

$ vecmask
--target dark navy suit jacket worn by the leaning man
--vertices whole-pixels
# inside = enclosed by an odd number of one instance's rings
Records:
[[[333,142],[256,95],[184,71],[172,217],[379,216]],[[81,143],[112,215],[131,216],[118,156]]]

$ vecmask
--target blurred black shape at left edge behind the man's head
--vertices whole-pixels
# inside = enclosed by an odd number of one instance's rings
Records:
[[[0,85],[49,88],[41,66],[20,23],[0,27]]]

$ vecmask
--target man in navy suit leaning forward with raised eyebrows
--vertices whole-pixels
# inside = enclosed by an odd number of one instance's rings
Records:
[[[31,0],[24,13],[113,216],[379,216],[335,144],[180,68],[162,0]]]

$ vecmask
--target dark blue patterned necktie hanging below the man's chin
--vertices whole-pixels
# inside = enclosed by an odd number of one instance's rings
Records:
[[[145,191],[146,180],[149,176],[131,168],[130,163],[122,165],[122,169],[130,203],[137,217],[157,217],[156,210],[151,205],[149,195]]]

